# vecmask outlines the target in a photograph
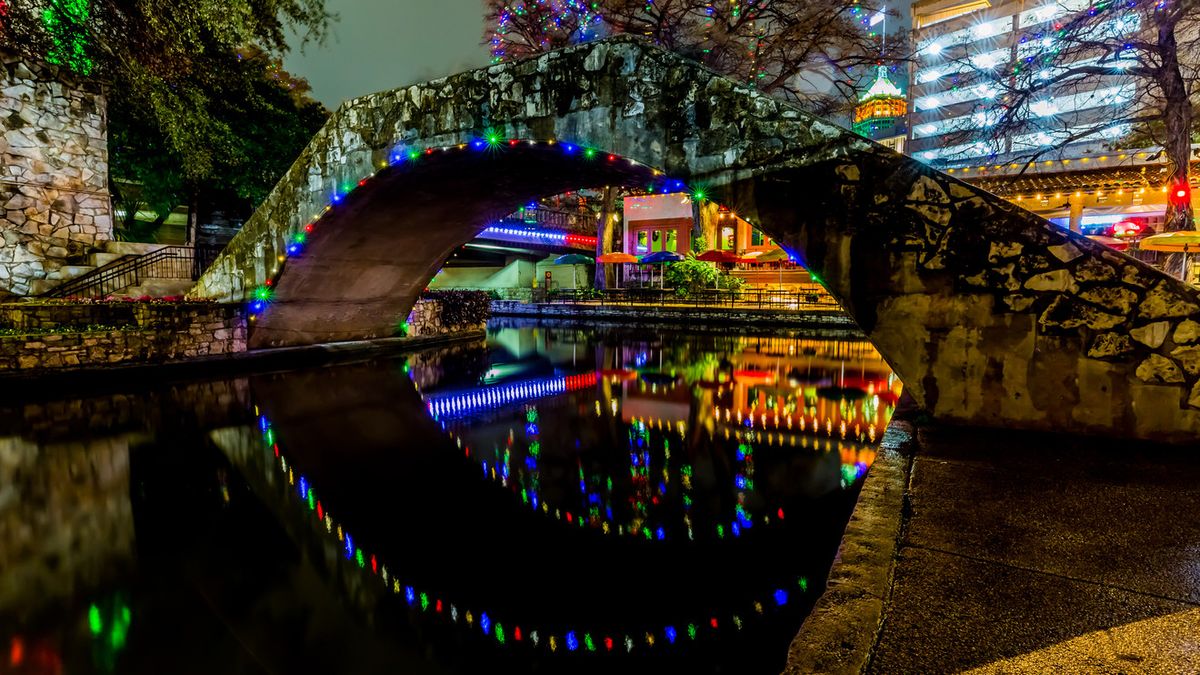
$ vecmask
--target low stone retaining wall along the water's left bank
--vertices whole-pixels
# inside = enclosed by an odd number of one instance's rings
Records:
[[[240,305],[0,305],[0,371],[162,363],[246,351]]]

